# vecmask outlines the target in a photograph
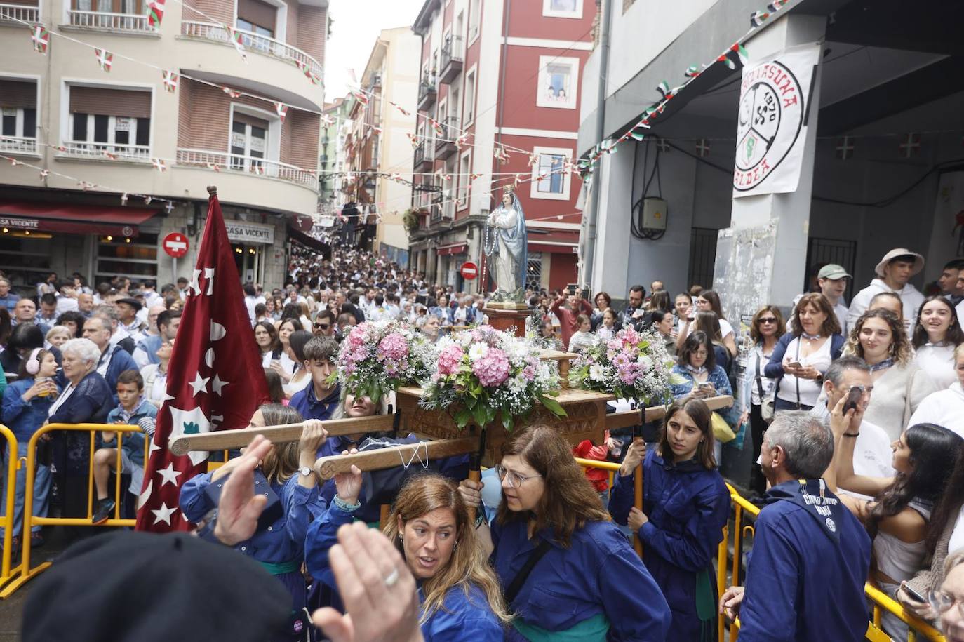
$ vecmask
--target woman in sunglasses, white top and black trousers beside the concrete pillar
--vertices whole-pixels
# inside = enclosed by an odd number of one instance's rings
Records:
[[[760,459],[760,448],[763,445],[763,433],[766,431],[766,421],[763,420],[763,403],[772,403],[773,387],[776,380],[763,373],[763,367],[770,362],[777,340],[784,334],[784,320],[780,310],[775,306],[763,306],[753,315],[750,322],[750,337],[753,339],[753,350],[746,360],[746,374],[743,378],[743,390],[739,395],[743,404],[743,416],[740,423],[750,420],[750,431],[753,435],[753,465],[750,470],[750,490],[758,495],[766,492],[766,477],[763,468],[757,464]],[[746,402],[750,403],[747,404]]]

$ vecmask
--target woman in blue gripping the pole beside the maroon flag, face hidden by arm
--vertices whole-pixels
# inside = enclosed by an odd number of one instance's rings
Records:
[[[297,423],[301,420],[302,416],[293,408],[265,404],[254,412],[250,427]],[[258,468],[281,500],[281,517],[267,526],[259,523],[251,539],[234,546],[238,552],[260,562],[291,592],[293,629],[276,636],[279,640],[297,639],[293,636],[309,626],[304,611],[307,585],[301,567],[305,560],[308,524],[325,512],[325,502],[318,492],[314,462],[315,452],[327,435],[321,421],[309,419],[305,422],[301,441],[275,444]],[[217,508],[204,489],[210,484],[223,484],[240,459],[234,458],[213,472],[192,477],[181,487],[180,509],[191,522],[204,524],[202,530],[207,530],[206,526],[210,524],[204,522],[209,519],[208,514]],[[304,639],[304,634],[301,638]]]

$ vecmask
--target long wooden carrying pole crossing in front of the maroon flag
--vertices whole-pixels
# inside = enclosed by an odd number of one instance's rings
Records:
[[[325,430],[330,437],[357,435],[359,433],[380,433],[394,428],[394,415],[360,416],[347,419],[324,421]],[[197,435],[181,435],[171,441],[171,452],[186,455],[191,450],[229,450],[242,448],[256,435],[264,435],[273,443],[298,441],[301,439],[302,423],[285,423],[264,428],[240,428],[238,430],[217,430]]]

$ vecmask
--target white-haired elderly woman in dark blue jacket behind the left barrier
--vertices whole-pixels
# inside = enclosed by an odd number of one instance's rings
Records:
[[[61,346],[67,387],[47,413],[48,423],[103,423],[114,407],[107,381],[97,373],[100,349],[91,339],[70,339]],[[52,461],[62,489],[63,517],[87,515],[91,440],[83,432],[55,432]],[[38,455],[40,457],[40,454]],[[68,529],[67,536],[79,535]]]

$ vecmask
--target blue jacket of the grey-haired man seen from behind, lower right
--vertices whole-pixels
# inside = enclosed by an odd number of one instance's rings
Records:
[[[740,642],[857,642],[867,631],[870,537],[841,504],[830,517],[792,501],[799,482],[766,492],[747,560]],[[814,495],[814,494],[812,494]],[[824,496],[836,500],[829,491]],[[821,507],[822,508],[822,507]]]

